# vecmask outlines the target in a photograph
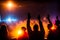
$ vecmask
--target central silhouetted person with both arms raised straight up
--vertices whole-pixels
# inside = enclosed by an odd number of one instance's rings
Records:
[[[27,31],[28,31],[28,35],[29,35],[29,40],[43,40],[44,39],[44,29],[42,26],[42,22],[40,21],[40,16],[38,17],[38,20],[39,20],[39,24],[41,26],[41,32],[38,31],[38,25],[37,24],[35,24],[33,27],[34,31],[31,30],[30,19],[31,19],[31,16],[30,16],[30,13],[28,13]]]

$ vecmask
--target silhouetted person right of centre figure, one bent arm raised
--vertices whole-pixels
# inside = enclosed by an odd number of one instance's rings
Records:
[[[50,15],[47,16],[47,19],[48,19],[48,21],[49,21],[49,24],[48,24],[49,34],[48,34],[47,39],[48,39],[48,40],[56,40],[56,34],[55,34],[55,32],[53,32],[53,31],[51,30],[51,27],[52,27],[53,24],[52,24],[52,22],[50,21]]]

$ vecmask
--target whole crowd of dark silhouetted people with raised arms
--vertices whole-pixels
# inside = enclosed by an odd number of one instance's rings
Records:
[[[58,16],[56,17],[56,21],[55,21],[55,25],[57,26],[57,29],[55,32],[53,32],[50,29],[53,26],[50,20],[50,15],[48,15],[46,18],[49,21],[49,24],[47,25],[47,28],[49,29],[47,40],[60,40],[60,20],[58,19]],[[40,15],[37,16],[37,20],[39,21],[39,25],[40,25],[40,31],[38,31],[37,24],[35,24],[33,27],[34,31],[31,30],[30,19],[31,19],[31,15],[30,13],[28,13],[27,29],[25,27],[22,27],[22,30],[24,31],[25,35],[22,39],[18,38],[18,40],[44,40],[45,30],[43,28]],[[28,31],[28,35],[26,35],[27,34],[25,32],[26,30]],[[0,40],[10,40],[8,38],[7,32],[8,32],[7,25],[5,25],[5,23],[0,23]],[[26,38],[25,36],[29,36],[29,37]]]

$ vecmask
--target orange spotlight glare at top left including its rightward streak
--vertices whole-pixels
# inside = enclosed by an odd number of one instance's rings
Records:
[[[14,1],[11,1],[11,0],[2,3],[2,5],[3,5],[4,9],[9,10],[9,11],[12,11],[12,10],[14,11],[16,8],[22,7],[22,5],[14,2]]]

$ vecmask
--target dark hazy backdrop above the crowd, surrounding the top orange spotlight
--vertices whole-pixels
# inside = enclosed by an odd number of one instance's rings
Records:
[[[6,0],[0,0],[0,3],[5,2]],[[37,15],[45,17],[50,14],[52,17],[60,16],[60,3],[57,0],[13,0],[16,3],[22,5],[21,8],[15,10],[15,12],[8,12],[3,10],[0,6],[0,14],[2,19],[13,15],[18,19],[26,19],[27,13],[30,12],[32,18],[36,18]]]

